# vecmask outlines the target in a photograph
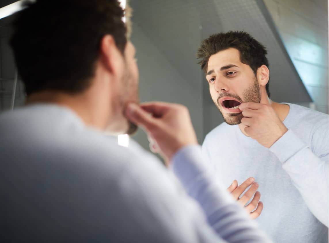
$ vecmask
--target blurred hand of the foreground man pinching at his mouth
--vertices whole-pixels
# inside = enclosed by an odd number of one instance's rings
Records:
[[[198,144],[189,110],[183,105],[150,102],[138,106],[131,103],[125,114],[146,131],[151,147],[160,153],[166,165],[182,147]]]

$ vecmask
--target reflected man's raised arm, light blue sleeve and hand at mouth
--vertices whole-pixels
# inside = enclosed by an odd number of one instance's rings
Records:
[[[328,226],[327,121],[314,126],[312,144],[318,151],[316,155],[285,127],[270,105],[250,102],[239,109],[244,116],[244,132],[276,154],[311,212]]]

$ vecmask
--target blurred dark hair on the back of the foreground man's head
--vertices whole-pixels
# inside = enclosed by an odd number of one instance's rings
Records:
[[[123,53],[124,11],[117,0],[37,0],[24,3],[13,23],[11,46],[27,94],[79,93],[89,87],[105,34]]]

